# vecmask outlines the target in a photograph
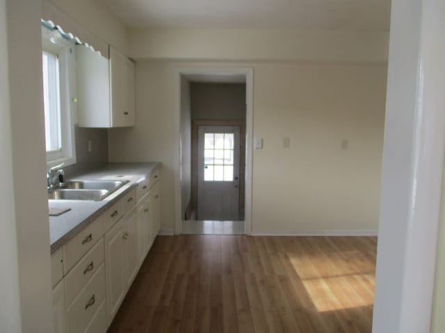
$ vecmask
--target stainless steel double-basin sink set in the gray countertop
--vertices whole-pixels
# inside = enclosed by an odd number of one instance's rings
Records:
[[[128,180],[72,180],[48,192],[49,200],[100,201],[120,189]]]

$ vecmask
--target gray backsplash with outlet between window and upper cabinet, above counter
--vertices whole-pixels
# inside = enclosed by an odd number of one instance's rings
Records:
[[[106,128],[81,128],[76,126],[76,164],[63,168],[65,178],[102,167],[108,162],[108,130]],[[92,151],[88,151],[88,142]]]

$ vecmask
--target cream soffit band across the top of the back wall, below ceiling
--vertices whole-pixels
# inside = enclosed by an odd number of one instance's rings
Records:
[[[347,31],[129,30],[129,56],[181,60],[386,62],[388,33]]]

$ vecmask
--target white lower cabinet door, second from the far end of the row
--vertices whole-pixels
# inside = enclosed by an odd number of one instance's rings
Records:
[[[149,195],[142,198],[136,206],[136,214],[138,219],[138,257],[139,264],[145,259],[150,244],[150,215],[149,215]]]

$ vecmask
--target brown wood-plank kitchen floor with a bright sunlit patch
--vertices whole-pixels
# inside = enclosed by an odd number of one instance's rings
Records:
[[[108,332],[371,332],[375,237],[157,237]]]

